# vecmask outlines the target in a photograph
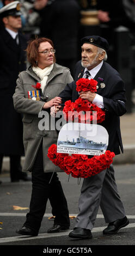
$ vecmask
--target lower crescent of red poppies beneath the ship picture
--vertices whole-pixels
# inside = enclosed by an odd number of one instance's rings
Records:
[[[109,168],[115,154],[109,150],[100,156],[57,153],[57,145],[52,144],[48,149],[48,158],[66,174],[74,178],[88,178]]]

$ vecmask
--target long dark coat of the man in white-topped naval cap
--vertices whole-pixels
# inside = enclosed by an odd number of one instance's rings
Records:
[[[22,116],[13,105],[16,80],[19,72],[26,70],[26,39],[19,33],[19,46],[11,35],[2,28],[0,31],[0,109],[1,146],[0,154],[23,155]]]

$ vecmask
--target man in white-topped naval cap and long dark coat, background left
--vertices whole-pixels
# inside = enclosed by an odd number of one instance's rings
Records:
[[[3,156],[10,156],[11,182],[28,181],[22,172],[21,156],[24,155],[22,116],[13,105],[16,80],[19,72],[26,70],[27,41],[19,29],[22,27],[19,1],[0,9],[0,168]]]

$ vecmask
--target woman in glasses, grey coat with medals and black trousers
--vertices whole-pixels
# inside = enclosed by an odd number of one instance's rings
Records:
[[[59,105],[61,98],[57,95],[67,83],[72,82],[72,77],[69,69],[55,63],[55,50],[50,39],[34,39],[29,42],[26,51],[28,62],[31,65],[26,71],[20,73],[13,99],[16,111],[23,113],[25,149],[23,171],[32,172],[33,185],[26,222],[16,232],[36,236],[48,199],[52,206],[52,214],[56,216],[54,225],[48,233],[66,230],[70,225],[68,206],[55,172],[57,169],[47,157],[50,145],[57,143],[57,131],[42,129],[44,126],[39,129],[39,124],[44,120],[46,128],[49,123],[50,107]],[[38,115],[41,117],[42,113],[45,115],[44,119],[38,117]]]

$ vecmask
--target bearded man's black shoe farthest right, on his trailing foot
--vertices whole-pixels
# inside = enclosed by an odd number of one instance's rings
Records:
[[[130,222],[127,217],[121,218],[108,224],[108,227],[103,230],[103,235],[116,234],[120,228],[126,227]]]

